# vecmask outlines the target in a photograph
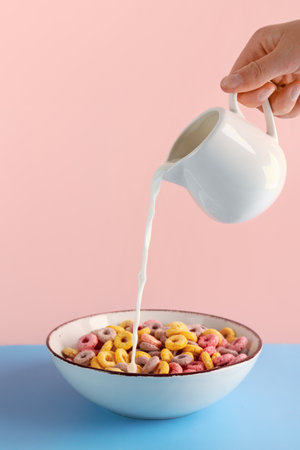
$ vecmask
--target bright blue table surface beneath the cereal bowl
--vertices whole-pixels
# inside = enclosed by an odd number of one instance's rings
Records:
[[[232,393],[172,420],[130,419],[89,402],[44,346],[0,347],[0,361],[1,450],[300,449],[300,345],[264,345]]]

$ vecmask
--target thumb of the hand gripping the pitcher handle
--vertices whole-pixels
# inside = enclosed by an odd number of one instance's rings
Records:
[[[268,81],[286,73],[282,57],[276,50],[252,61],[223,78],[221,88],[225,92],[248,92],[260,88]]]

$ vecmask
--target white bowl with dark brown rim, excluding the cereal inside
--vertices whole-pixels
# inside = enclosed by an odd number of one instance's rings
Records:
[[[251,342],[249,359],[209,372],[176,375],[140,375],[81,367],[65,360],[61,351],[75,347],[80,336],[92,330],[134,319],[135,311],[95,314],[59,325],[50,332],[47,347],[63,377],[80,394],[111,411],[143,419],[168,419],[185,416],[221,399],[245,378],[262,348],[253,330],[233,320],[186,311],[142,310],[141,322],[157,319],[167,324],[180,320],[200,323],[218,330],[231,327],[238,336]]]

